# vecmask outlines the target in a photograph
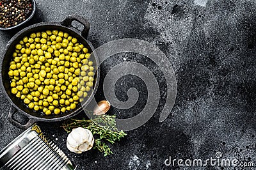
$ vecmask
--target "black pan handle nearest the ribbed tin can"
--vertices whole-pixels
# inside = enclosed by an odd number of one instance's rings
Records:
[[[26,128],[31,127],[31,125],[33,125],[33,123],[35,123],[35,121],[36,121],[35,119],[29,118],[29,121],[26,124],[23,125],[22,123],[20,123],[19,121],[15,120],[13,118],[13,116],[16,112],[17,112],[17,109],[15,109],[15,107],[13,107],[13,105],[11,105],[11,109],[10,109],[10,112],[9,112],[9,115],[8,115],[8,119],[16,127],[21,128],[21,129],[26,129]]]

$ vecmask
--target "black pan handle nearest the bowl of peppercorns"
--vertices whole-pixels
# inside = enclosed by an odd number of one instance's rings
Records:
[[[60,24],[62,26],[65,27],[72,27],[72,22],[76,20],[77,22],[79,22],[80,24],[82,24],[84,26],[83,31],[81,31],[81,36],[83,36],[85,39],[88,36],[89,33],[89,29],[90,29],[90,23],[88,22],[88,20],[84,19],[83,17],[79,16],[79,15],[69,15],[65,20],[63,20],[63,22],[61,22]]]

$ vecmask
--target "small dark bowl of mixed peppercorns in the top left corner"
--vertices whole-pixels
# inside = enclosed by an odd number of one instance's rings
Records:
[[[0,30],[25,24],[35,15],[35,11],[35,0],[0,0]]]

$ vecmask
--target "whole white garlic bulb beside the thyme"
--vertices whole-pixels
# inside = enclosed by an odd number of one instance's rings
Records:
[[[74,153],[82,153],[92,149],[94,138],[92,132],[86,128],[75,128],[67,138],[67,148]]]

